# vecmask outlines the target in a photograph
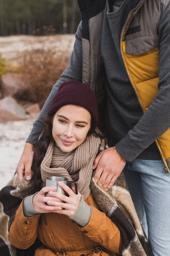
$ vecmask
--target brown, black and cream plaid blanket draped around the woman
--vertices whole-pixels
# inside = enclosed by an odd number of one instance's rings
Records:
[[[102,212],[117,225],[122,236],[122,256],[153,256],[150,244],[144,234],[137,217],[132,199],[128,192],[123,173],[115,184],[105,192],[100,184],[91,179],[91,191]],[[34,193],[33,181],[25,178],[19,183],[15,174],[11,181],[0,191],[0,255],[2,256],[34,256],[40,241],[28,248],[14,248],[9,239],[9,228],[23,198]]]

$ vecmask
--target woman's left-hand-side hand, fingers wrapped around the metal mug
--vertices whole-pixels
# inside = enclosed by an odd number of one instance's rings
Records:
[[[47,213],[47,212],[53,212],[57,209],[61,209],[61,207],[56,207],[56,206],[48,206],[47,201],[55,201],[55,202],[59,202],[58,198],[52,198],[52,197],[47,197],[45,196],[45,193],[49,193],[49,192],[54,192],[56,191],[56,187],[44,187],[40,190],[40,192],[38,192],[36,195],[34,195],[33,197],[33,205],[34,205],[34,209],[36,210],[36,212],[38,213]]]

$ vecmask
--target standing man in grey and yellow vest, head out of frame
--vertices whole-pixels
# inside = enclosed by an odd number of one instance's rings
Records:
[[[104,70],[110,148],[96,157],[95,180],[110,189],[124,169],[155,256],[169,255],[170,250],[169,2],[79,0],[82,22],[70,62],[34,122],[17,167],[20,179],[24,172],[31,178],[34,145],[59,85],[82,81],[99,99],[99,75]]]

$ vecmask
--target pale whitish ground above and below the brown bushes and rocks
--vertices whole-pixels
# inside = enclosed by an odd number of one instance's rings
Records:
[[[71,52],[74,40],[74,35],[0,37],[0,52],[4,58],[15,64],[18,53],[30,49],[30,47],[31,49],[56,47],[56,52]],[[33,122],[34,119],[27,119],[0,123],[0,189],[6,185],[15,172]]]

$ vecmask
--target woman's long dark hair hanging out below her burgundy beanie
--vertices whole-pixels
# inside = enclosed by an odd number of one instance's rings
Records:
[[[45,117],[43,131],[37,141],[37,144],[34,150],[32,171],[34,172],[33,180],[34,180],[34,184],[36,185],[36,189],[40,189],[42,185],[41,171],[40,171],[42,160],[45,157],[49,144],[51,143],[51,141],[54,141],[54,138],[52,135],[52,127],[53,127],[52,121],[53,121],[54,115]],[[91,134],[94,134],[94,136],[96,137],[105,138],[105,136],[101,132],[96,130],[96,123],[94,121],[93,116],[91,116],[91,128],[88,131],[87,136],[90,136]]]

